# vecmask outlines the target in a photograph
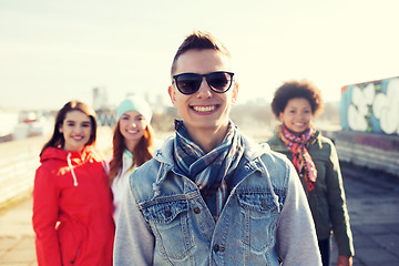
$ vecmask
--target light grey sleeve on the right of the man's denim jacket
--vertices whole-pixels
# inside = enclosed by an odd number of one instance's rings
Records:
[[[283,265],[319,265],[316,229],[304,188],[288,163],[288,193],[277,227],[277,248]]]

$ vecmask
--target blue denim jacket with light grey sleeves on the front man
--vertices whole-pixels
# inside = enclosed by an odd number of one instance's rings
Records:
[[[114,265],[321,265],[294,166],[249,144],[217,222],[175,170],[173,139],[136,168],[116,225]]]

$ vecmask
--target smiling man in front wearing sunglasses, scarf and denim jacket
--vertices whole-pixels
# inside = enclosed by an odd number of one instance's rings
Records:
[[[238,84],[226,48],[188,35],[168,94],[181,120],[130,177],[114,265],[321,265],[294,166],[229,119]]]

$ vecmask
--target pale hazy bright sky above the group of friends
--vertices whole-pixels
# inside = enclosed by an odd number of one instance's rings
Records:
[[[397,0],[0,0],[0,108],[60,109],[92,89],[167,99],[173,55],[194,29],[232,52],[238,103],[308,79],[340,88],[399,75]]]

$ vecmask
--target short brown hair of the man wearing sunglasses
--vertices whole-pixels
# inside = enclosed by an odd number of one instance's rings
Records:
[[[173,59],[171,74],[173,75],[176,71],[176,61],[188,50],[205,50],[205,49],[213,49],[215,51],[218,51],[226,55],[227,58],[231,58],[229,51],[226,49],[225,45],[221,41],[216,39],[216,37],[212,35],[208,32],[202,32],[202,31],[194,31],[190,35],[185,38],[183,43],[177,49],[177,52]]]

